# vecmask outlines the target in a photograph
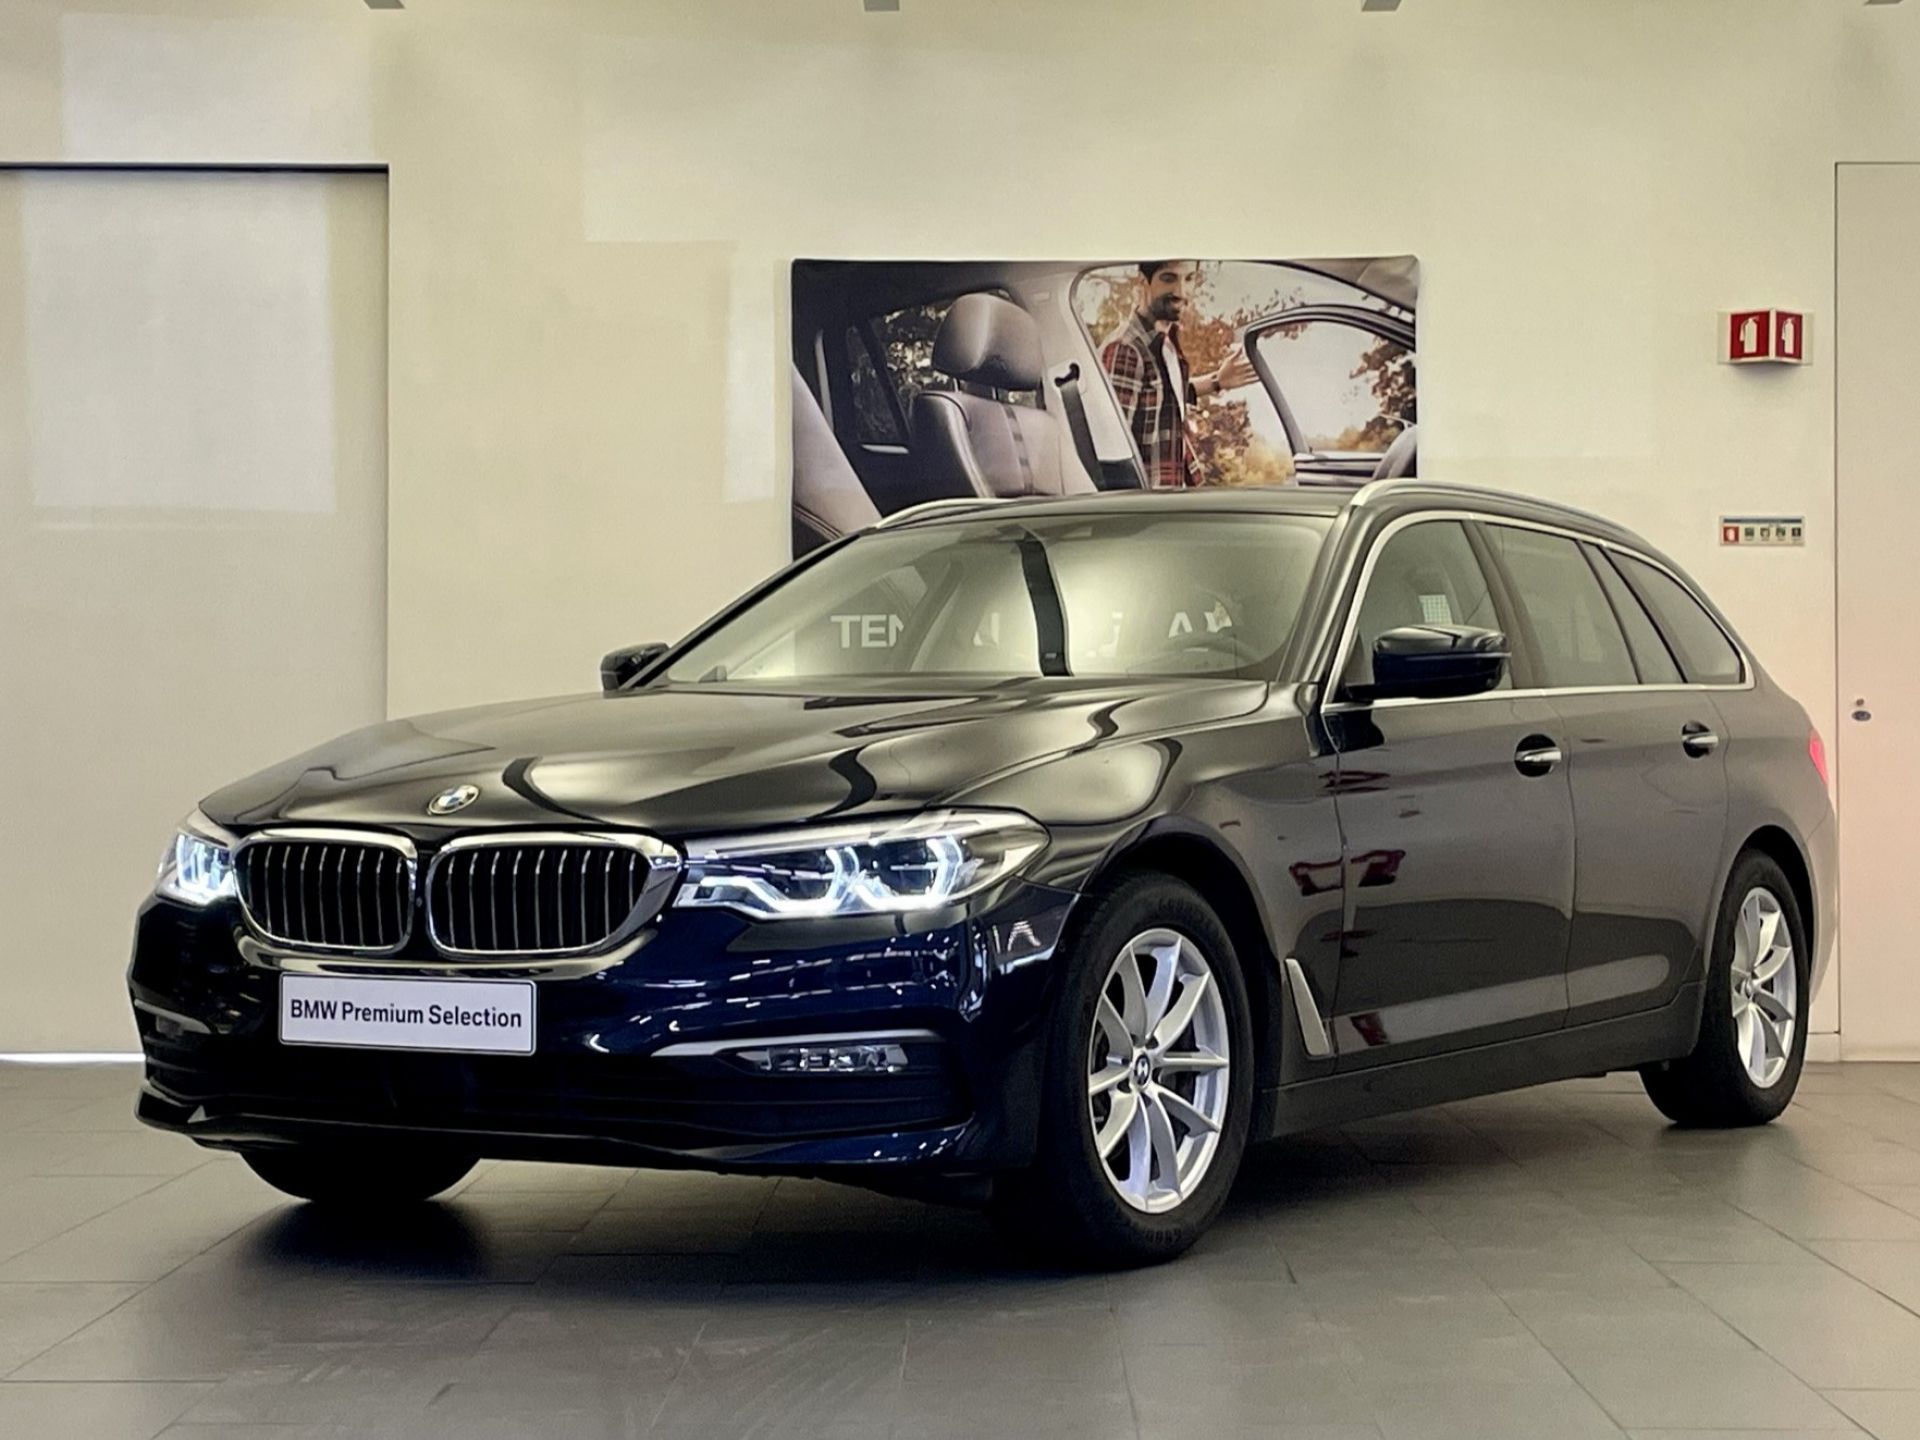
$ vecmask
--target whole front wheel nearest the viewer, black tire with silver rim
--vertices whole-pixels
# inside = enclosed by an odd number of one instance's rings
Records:
[[[993,1212],[1048,1261],[1150,1265],[1200,1238],[1240,1169],[1254,1100],[1246,977],[1219,916],[1169,876],[1133,876],[1087,904],[1048,1018],[1035,1162],[995,1183]],[[1156,1004],[1171,1029],[1146,1023]]]

